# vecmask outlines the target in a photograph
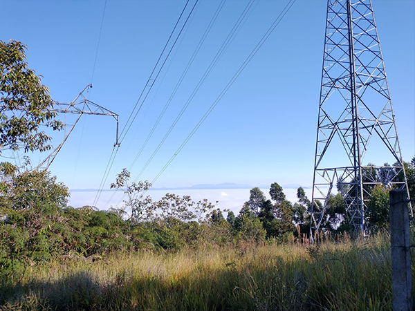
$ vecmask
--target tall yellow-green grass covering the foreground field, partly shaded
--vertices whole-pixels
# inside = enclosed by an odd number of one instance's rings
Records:
[[[52,263],[4,285],[0,310],[389,310],[389,250],[379,234]]]

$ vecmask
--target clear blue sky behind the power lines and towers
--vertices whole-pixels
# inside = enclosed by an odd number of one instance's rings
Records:
[[[43,76],[54,100],[70,102],[92,81],[89,100],[118,113],[122,129],[185,2],[108,0],[97,54],[105,1],[1,0],[0,39],[16,39],[28,46],[28,64]],[[132,167],[133,178],[172,126],[248,2],[225,2],[165,116]],[[106,189],[116,173],[131,166],[219,3],[199,1],[122,142]],[[248,19],[140,179],[153,180],[174,155],[286,3],[254,3]],[[373,4],[400,145],[408,161],[415,154],[415,1],[373,0]],[[154,187],[223,182],[252,187],[271,182],[311,186],[325,17],[326,1],[297,0]],[[83,116],[50,171],[71,189],[98,188],[115,131],[111,117]],[[53,133],[53,138],[53,144],[59,144],[62,133]],[[36,164],[47,155],[31,156]],[[212,201],[225,200],[221,192],[205,194]],[[237,209],[248,199],[249,189],[240,196],[244,198],[225,207]],[[72,194],[74,205],[90,205],[94,197],[93,193]]]

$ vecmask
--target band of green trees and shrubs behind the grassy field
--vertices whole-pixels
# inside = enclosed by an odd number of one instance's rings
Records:
[[[405,163],[409,190],[415,197],[415,158]],[[0,167],[1,277],[13,279],[29,265],[64,256],[93,258],[114,251],[159,252],[183,247],[238,245],[242,241],[277,243],[304,239],[308,234],[311,202],[301,187],[295,204],[286,200],[277,182],[270,200],[257,187],[238,215],[216,203],[190,196],[166,194],[158,201],[142,196],[149,182],[129,182],[123,170],[112,188],[126,194],[122,209],[99,210],[67,206],[68,188],[48,171],[19,169],[8,162]],[[366,223],[369,232],[389,223],[388,189],[369,189]],[[131,210],[127,215],[125,210]],[[223,213],[227,212],[226,218]],[[351,230],[340,194],[331,196],[322,222],[324,232]]]

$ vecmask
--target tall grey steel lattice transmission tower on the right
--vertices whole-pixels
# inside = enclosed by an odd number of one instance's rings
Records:
[[[351,224],[365,230],[367,201],[377,184],[407,189],[372,3],[328,0],[311,236],[335,193]]]

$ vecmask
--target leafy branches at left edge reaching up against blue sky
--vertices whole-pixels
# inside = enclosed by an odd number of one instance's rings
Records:
[[[26,63],[26,46],[0,41],[0,153],[3,149],[46,151],[50,136],[39,126],[62,129],[50,111],[53,100],[41,78]]]

